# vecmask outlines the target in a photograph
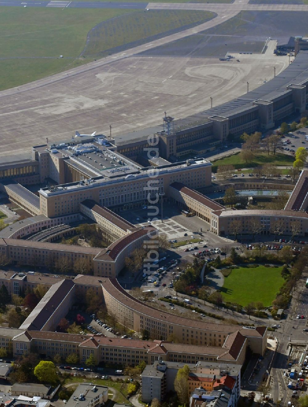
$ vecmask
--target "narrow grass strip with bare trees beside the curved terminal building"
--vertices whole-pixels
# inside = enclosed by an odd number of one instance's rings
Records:
[[[275,155],[268,155],[267,153],[256,153],[253,160],[249,162],[245,162],[242,160],[240,153],[231,155],[230,157],[221,158],[219,160],[212,162],[212,172],[216,173],[217,168],[220,165],[227,165],[231,164],[234,168],[254,168],[259,165],[263,165],[266,163],[273,164],[275,166],[292,166],[294,162],[294,158],[288,154],[276,153]]]

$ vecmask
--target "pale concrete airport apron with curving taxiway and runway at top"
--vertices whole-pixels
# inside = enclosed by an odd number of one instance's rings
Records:
[[[217,15],[199,26],[0,92],[0,155],[7,155],[9,151],[23,153],[35,144],[45,143],[47,137],[49,141],[71,138],[75,130],[109,134],[111,125],[113,136],[139,130],[161,123],[165,111],[175,118],[186,117],[208,109],[210,96],[214,107],[245,93],[247,81],[249,90],[253,90],[270,80],[274,66],[277,75],[288,65],[288,57],[278,59],[273,55],[275,41],[269,43],[264,54],[233,53],[235,59],[230,62],[190,56],[138,56],[151,48],[213,28],[244,9],[308,11],[308,5],[247,4],[247,1],[149,3],[146,6],[149,9],[209,10]],[[28,2],[22,3],[28,5]],[[46,4],[35,3],[39,7]],[[7,5],[7,2],[0,4]],[[64,8],[74,4],[81,3],[51,0],[46,6]],[[91,4],[100,7],[107,2],[91,2],[86,6]],[[121,4],[112,3],[112,7]],[[236,62],[237,58],[240,63]]]

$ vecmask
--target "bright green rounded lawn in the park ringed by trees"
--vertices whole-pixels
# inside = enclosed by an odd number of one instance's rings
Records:
[[[284,283],[282,267],[240,267],[225,278],[221,293],[226,302],[246,306],[249,302],[261,301],[270,306]]]

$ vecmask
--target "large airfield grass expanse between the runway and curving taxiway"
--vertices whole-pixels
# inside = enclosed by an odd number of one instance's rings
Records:
[[[214,13],[190,10],[1,7],[0,90],[91,62],[104,50],[146,42],[147,36],[213,17]]]

